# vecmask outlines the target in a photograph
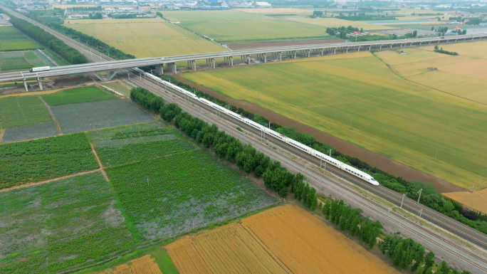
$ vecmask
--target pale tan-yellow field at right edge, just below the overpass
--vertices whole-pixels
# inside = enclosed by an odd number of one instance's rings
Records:
[[[399,75],[445,93],[487,104],[487,42],[441,45],[459,56],[434,53],[433,46],[375,53]]]

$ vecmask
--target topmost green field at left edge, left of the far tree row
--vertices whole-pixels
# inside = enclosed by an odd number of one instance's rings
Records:
[[[17,31],[13,26],[0,27],[0,51],[23,51],[35,48],[43,48],[43,46]]]

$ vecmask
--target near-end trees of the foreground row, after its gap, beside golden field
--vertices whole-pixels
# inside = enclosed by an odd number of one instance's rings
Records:
[[[323,204],[323,214],[340,231],[348,231],[351,236],[357,236],[359,241],[372,249],[377,243],[377,238],[383,233],[382,223],[372,222],[370,218],[361,218],[361,209],[352,208],[343,200],[328,199]],[[424,246],[411,238],[400,238],[385,234],[384,240],[379,241],[379,251],[392,260],[392,264],[401,270],[410,269],[417,274],[432,274],[435,268],[432,252],[426,253]],[[461,274],[469,274],[464,270]],[[445,261],[436,266],[435,274],[460,274],[459,270],[451,270]]]

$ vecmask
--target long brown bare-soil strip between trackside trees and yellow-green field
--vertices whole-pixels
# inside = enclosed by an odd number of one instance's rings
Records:
[[[251,102],[235,100],[231,98],[227,98],[220,93],[216,93],[214,90],[210,90],[209,88],[205,88],[201,85],[197,85],[194,83],[181,78],[179,75],[172,75],[177,80],[190,85],[192,88],[197,88],[204,93],[208,93],[215,98],[219,98],[221,100],[225,100],[226,102],[235,105],[236,107],[242,107],[244,110],[248,110],[258,115],[263,115],[268,120],[272,122],[277,122],[279,125],[283,125],[285,127],[295,127],[296,130],[299,132],[307,133],[313,135],[318,139],[320,142],[324,142],[326,144],[330,144],[335,149],[339,150],[344,154],[348,154],[352,157],[357,157],[364,162],[369,163],[372,167],[377,167],[379,169],[384,170],[385,172],[389,172],[390,174],[394,174],[395,176],[402,176],[402,178],[410,180],[410,181],[425,181],[429,184],[432,184],[436,190],[440,193],[446,192],[454,192],[454,191],[465,191],[459,186],[455,186],[454,184],[449,183],[448,181],[436,178],[430,174],[426,174],[424,172],[420,172],[417,169],[413,169],[412,167],[408,167],[405,164],[396,162],[392,159],[387,157],[381,156],[379,154],[375,154],[367,149],[362,149],[361,147],[355,146],[355,144],[350,144],[342,139],[334,137],[332,135],[328,135],[325,132],[315,129],[314,127],[310,127],[308,125],[304,125],[300,122],[296,122],[293,119],[290,119],[286,116],[279,115],[276,112],[272,112],[271,110],[267,110],[264,107],[259,107],[258,105],[253,105]]]

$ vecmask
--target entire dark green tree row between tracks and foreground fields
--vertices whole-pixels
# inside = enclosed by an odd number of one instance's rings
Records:
[[[132,97],[132,94],[133,95]],[[154,102],[152,96],[157,97],[144,88],[133,88],[131,98],[135,102],[142,102],[142,106],[154,112],[155,107],[159,109],[160,117],[166,122],[172,122],[174,127],[181,130],[185,135],[191,137],[206,148],[213,147],[215,154],[228,162],[234,162],[239,169],[256,176],[262,176],[266,188],[276,191],[280,196],[286,197],[288,191],[292,191],[294,198],[301,201],[305,208],[315,211],[318,208],[318,195],[316,189],[304,183],[303,174],[292,174],[284,167],[281,162],[272,161],[262,152],[257,152],[251,144],[242,144],[239,139],[226,132],[219,130],[216,125],[209,125],[198,117],[193,117],[187,112],[182,112],[177,104],[164,104],[164,100],[159,100],[159,104]],[[143,99],[141,99],[143,98]],[[343,200],[325,201],[321,207],[325,218],[330,220],[340,231],[348,231],[367,247],[372,249],[377,243],[377,238],[382,233],[382,223],[371,221],[370,218],[362,219],[361,209],[352,208],[345,204]],[[384,241],[379,243],[379,251],[392,260],[394,266],[402,269],[411,268],[419,274],[432,274],[434,267],[434,253],[429,252],[424,255],[424,247],[414,242],[412,239],[403,239],[397,236],[386,234]],[[459,274],[458,270],[450,270],[445,262],[436,269],[436,273]],[[468,274],[464,271],[462,274]]]

